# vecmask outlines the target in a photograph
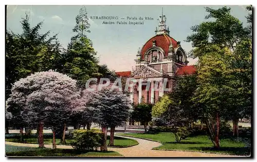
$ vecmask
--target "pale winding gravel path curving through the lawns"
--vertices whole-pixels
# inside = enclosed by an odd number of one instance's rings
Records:
[[[115,135],[118,136],[118,135]],[[225,154],[214,154],[214,153],[202,153],[202,152],[191,152],[191,151],[164,151],[164,150],[152,150],[152,148],[161,145],[159,142],[134,138],[124,137],[123,138],[135,139],[138,141],[138,145],[128,148],[108,148],[108,151],[116,151],[125,157],[235,157],[235,155]],[[17,142],[5,142],[6,145],[22,146],[22,147],[38,147],[37,144],[29,143],[17,143]],[[45,145],[46,148],[52,148],[52,145]],[[57,145],[58,149],[72,149],[71,146]],[[238,156],[237,156],[238,157]]]

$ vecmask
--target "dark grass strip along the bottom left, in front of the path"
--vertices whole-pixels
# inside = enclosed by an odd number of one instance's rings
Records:
[[[6,145],[6,156],[68,156],[68,157],[112,157],[122,156],[118,152],[78,152],[74,149],[41,149]]]

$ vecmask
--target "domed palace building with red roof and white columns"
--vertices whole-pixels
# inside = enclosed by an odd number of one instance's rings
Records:
[[[158,20],[159,26],[154,37],[146,41],[137,52],[135,71],[116,73],[120,77],[138,81],[131,93],[131,101],[135,104],[155,103],[159,97],[172,91],[176,76],[195,73],[194,66],[187,66],[189,62],[180,42],[170,36],[166,16],[161,15]],[[147,87],[146,82],[151,82],[150,87]],[[160,89],[156,90],[156,87]]]

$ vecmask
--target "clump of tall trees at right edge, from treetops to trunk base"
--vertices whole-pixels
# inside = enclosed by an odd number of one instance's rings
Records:
[[[214,21],[193,26],[187,42],[194,47],[191,57],[199,58],[193,102],[200,107],[213,144],[219,147],[220,118],[232,119],[238,129],[238,118],[250,115],[251,17],[244,28],[228,7],[207,7],[206,11],[206,19]]]

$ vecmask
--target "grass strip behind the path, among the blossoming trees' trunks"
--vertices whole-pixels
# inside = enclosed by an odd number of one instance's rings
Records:
[[[6,136],[6,141],[10,142],[22,142],[22,143],[33,143],[33,144],[38,144],[38,137],[35,134],[32,134],[31,137],[29,138],[24,138],[24,141],[20,140],[20,136],[17,134],[10,134]],[[50,144],[52,143],[52,137],[51,134],[44,134],[44,143],[45,144]],[[56,143],[57,145],[62,145],[61,140],[59,138],[56,138]],[[66,144],[69,145],[70,140],[66,139]],[[107,136],[107,144],[109,143],[109,136]],[[134,139],[127,139],[127,138],[122,138],[122,137],[114,137],[114,147],[130,147],[137,145],[138,142]]]

